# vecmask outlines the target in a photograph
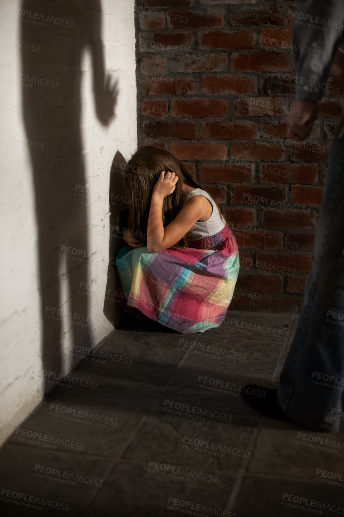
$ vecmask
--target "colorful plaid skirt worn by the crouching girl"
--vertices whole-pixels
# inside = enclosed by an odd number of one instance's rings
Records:
[[[239,273],[238,246],[227,224],[189,245],[157,253],[124,246],[116,257],[126,304],[183,334],[221,325]]]

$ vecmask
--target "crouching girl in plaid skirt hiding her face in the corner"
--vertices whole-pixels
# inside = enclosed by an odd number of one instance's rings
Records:
[[[116,257],[126,310],[185,334],[220,326],[239,273],[223,209],[164,149],[140,147],[127,170],[137,202]]]

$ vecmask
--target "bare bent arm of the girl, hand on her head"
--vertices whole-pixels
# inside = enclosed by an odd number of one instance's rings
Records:
[[[163,200],[166,195],[174,192],[178,177],[174,172],[162,171],[154,185],[150,203],[147,248],[150,253],[166,250],[174,246],[198,219],[202,218],[208,208],[208,200],[201,195],[195,195],[183,206],[176,218],[165,228],[162,221]]]

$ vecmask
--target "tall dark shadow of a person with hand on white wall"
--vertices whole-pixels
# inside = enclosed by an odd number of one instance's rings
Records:
[[[23,0],[21,7],[20,39],[26,44],[21,50],[22,104],[36,197],[42,368],[60,373],[61,320],[71,328],[73,343],[90,338],[88,297],[78,293],[81,282],[88,281],[89,261],[87,196],[81,194],[86,184],[81,128],[85,50],[91,54],[95,109],[103,126],[114,117],[117,92],[105,73],[99,0]],[[64,284],[69,299],[62,305]]]

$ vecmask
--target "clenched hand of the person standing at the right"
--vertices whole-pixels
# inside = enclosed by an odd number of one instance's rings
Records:
[[[305,140],[317,118],[317,102],[294,99],[291,113],[287,116],[287,136],[290,140]]]

